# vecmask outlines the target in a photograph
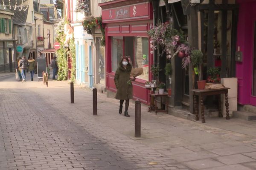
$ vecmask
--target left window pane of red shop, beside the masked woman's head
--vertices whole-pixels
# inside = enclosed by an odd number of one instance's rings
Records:
[[[111,68],[115,72],[123,56],[123,37],[111,37]]]

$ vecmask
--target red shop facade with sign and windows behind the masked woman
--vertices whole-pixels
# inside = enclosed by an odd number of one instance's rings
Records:
[[[150,54],[147,34],[153,26],[151,3],[146,0],[113,0],[99,6],[105,24],[107,95],[115,94],[115,71],[122,56],[129,56],[134,68],[143,68],[143,74],[133,82],[134,99],[149,103],[149,91],[144,84],[152,79],[153,54]]]

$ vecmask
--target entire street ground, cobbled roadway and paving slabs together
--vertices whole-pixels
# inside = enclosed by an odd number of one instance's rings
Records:
[[[0,77],[0,170],[256,169],[256,121],[203,124],[141,110],[142,137],[135,138],[133,103],[128,118],[115,99],[98,93],[93,116],[90,89],[76,86],[70,104],[65,81],[50,79],[47,88],[37,78]]]

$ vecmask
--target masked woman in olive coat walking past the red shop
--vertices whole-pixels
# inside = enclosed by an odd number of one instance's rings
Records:
[[[128,57],[122,57],[116,69],[114,81],[117,89],[115,98],[120,100],[119,114],[122,114],[122,104],[125,101],[125,116],[130,117],[128,115],[129,99],[133,98],[131,81],[134,81],[135,77],[130,76],[132,67],[128,61]]]

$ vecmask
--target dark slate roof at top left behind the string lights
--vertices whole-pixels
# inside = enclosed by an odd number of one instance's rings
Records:
[[[11,0],[11,6],[15,6],[15,2],[16,0]],[[17,6],[21,6],[21,3],[23,1],[23,6],[27,6],[28,4],[28,1],[29,0],[17,0]],[[8,4],[9,5],[9,0],[3,0],[3,2],[5,4]],[[26,19],[27,19],[27,16],[28,16],[28,11],[29,10],[19,10],[19,8],[17,7],[16,10],[14,10],[14,8],[11,8],[11,11],[14,13],[14,16],[13,16],[13,23],[14,24],[21,24],[21,25],[24,25],[26,23]]]

